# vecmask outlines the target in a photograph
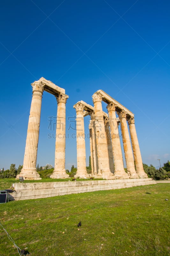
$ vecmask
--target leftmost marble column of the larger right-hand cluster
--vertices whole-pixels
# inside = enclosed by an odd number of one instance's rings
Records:
[[[83,110],[84,105],[78,102],[73,106],[76,108],[76,130],[77,130],[77,173],[74,175],[75,178],[89,177],[86,171],[86,160],[85,160],[85,127],[84,127],[84,116]]]

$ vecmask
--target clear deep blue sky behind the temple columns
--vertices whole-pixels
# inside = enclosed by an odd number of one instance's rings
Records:
[[[23,164],[31,83],[45,77],[65,89],[66,134],[73,105],[92,105],[99,89],[135,114],[143,162],[170,160],[170,2],[167,0],[16,0],[0,10],[0,168]],[[106,111],[106,104],[103,104]],[[44,92],[37,164],[54,166],[57,102]],[[88,133],[89,118],[85,118]],[[69,129],[69,131],[68,131]],[[52,134],[52,135],[49,135]],[[74,136],[73,136],[74,137]],[[86,158],[90,155],[86,139]],[[76,139],[66,139],[66,168],[77,166]]]

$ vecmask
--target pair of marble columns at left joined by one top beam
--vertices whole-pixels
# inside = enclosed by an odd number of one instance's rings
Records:
[[[51,178],[68,178],[65,171],[65,104],[68,95],[63,88],[58,87],[52,82],[41,77],[38,81],[31,84],[33,87],[33,97],[31,102],[28,130],[26,137],[26,148],[24,155],[23,168],[20,174],[26,180],[40,180],[40,175],[36,171],[37,149],[40,129],[41,101],[43,91],[49,92],[57,100],[57,124],[56,131],[61,134],[60,138],[56,134],[55,142],[55,168]],[[62,123],[62,125],[61,125]]]

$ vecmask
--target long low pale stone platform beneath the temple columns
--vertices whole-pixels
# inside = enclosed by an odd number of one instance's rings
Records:
[[[92,192],[98,190],[130,188],[149,184],[156,184],[156,182],[151,178],[146,178],[124,180],[85,180],[62,182],[14,183],[13,187],[15,192],[9,194],[9,199],[36,199],[50,196],[62,196],[67,194]]]

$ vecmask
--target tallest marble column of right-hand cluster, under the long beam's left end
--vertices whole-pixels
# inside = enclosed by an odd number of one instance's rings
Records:
[[[105,133],[105,125],[103,120],[102,110],[102,95],[100,92],[94,93],[92,96],[95,113],[95,127],[96,127],[96,142],[97,142],[97,156],[98,156],[98,176],[104,179],[113,179],[113,173],[110,172],[109,156],[107,149],[107,138]]]

